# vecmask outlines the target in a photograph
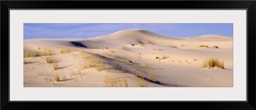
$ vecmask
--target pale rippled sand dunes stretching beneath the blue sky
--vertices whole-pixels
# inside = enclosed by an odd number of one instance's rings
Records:
[[[65,48],[73,51],[60,54]],[[233,39],[227,36],[177,38],[129,29],[95,38],[24,40],[24,54],[44,49],[55,54],[24,58],[30,61],[24,64],[24,87],[233,86]],[[84,60],[86,56],[90,58]],[[45,58],[54,59],[60,69],[52,70],[53,63],[46,63]],[[224,61],[225,69],[203,68],[208,58]],[[98,63],[82,68],[91,59]],[[104,69],[99,72],[99,67]]]

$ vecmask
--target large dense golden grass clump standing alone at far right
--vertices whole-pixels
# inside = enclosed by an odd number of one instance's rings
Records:
[[[224,62],[217,58],[205,59],[203,67],[205,68],[224,68]]]

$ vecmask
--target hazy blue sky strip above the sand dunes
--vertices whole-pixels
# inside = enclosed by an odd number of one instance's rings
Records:
[[[159,35],[176,37],[200,35],[233,36],[232,23],[25,23],[24,39],[91,38],[109,35],[124,29],[145,29]]]

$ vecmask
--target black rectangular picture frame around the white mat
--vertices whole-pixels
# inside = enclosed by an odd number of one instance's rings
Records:
[[[98,4],[104,4],[98,5]],[[117,5],[118,4],[118,5]],[[145,5],[141,5],[145,4]],[[246,9],[247,101],[49,101],[10,102],[10,9]],[[256,1],[1,1],[1,109],[255,109]],[[116,106],[118,105],[118,106]],[[122,106],[121,108],[119,106]]]

